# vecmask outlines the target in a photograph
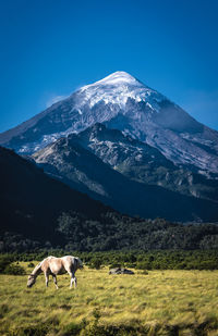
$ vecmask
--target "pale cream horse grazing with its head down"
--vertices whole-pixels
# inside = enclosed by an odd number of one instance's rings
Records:
[[[68,274],[71,276],[70,288],[72,287],[73,283],[74,287],[76,288],[75,272],[77,269],[83,269],[83,263],[80,258],[72,256],[56,258],[50,256],[35,266],[34,271],[28,276],[27,287],[32,287],[36,282],[36,277],[44,272],[46,277],[46,286],[48,287],[49,275],[52,275],[53,283],[58,289],[57,275],[68,272]]]

